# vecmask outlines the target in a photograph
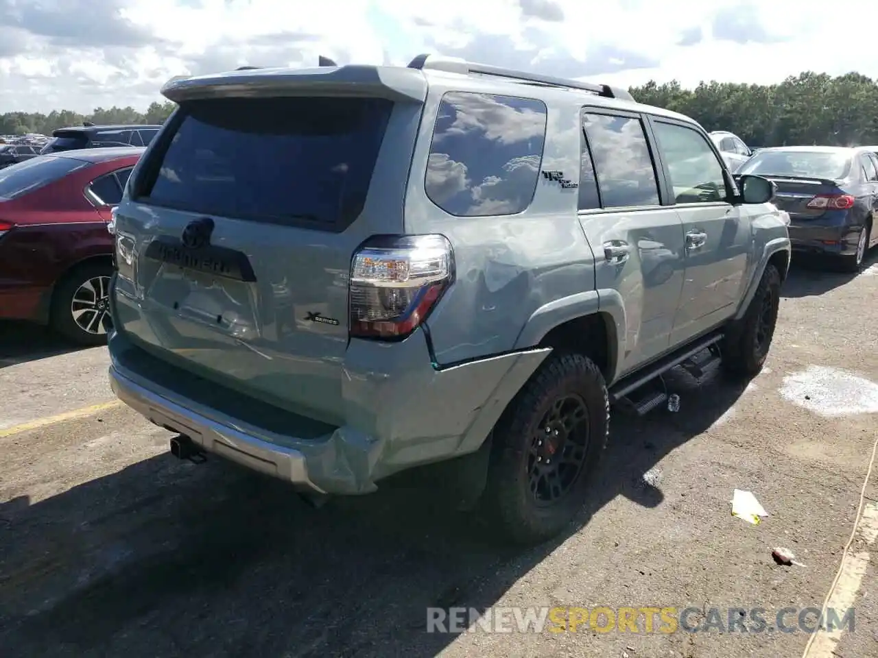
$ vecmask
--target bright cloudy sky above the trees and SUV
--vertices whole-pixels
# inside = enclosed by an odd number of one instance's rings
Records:
[[[878,3],[793,0],[0,0],[0,112],[161,100],[173,75],[251,65],[406,64],[415,54],[629,85],[878,77]],[[845,10],[850,7],[851,13]],[[856,16],[856,19],[851,18]]]

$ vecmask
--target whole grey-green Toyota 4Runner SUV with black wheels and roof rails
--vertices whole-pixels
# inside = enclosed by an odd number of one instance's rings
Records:
[[[427,55],[162,93],[114,219],[110,378],[176,456],[312,497],[455,464],[534,542],[586,501],[611,406],[766,359],[787,225],[691,118]]]

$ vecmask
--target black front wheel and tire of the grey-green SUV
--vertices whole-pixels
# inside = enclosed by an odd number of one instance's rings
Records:
[[[768,263],[744,317],[726,327],[721,353],[723,369],[728,374],[737,377],[759,375],[774,338],[780,303],[781,273]],[[766,326],[760,327],[763,321]]]

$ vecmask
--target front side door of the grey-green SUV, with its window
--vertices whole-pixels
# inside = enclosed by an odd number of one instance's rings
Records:
[[[751,227],[729,192],[723,164],[693,125],[651,118],[673,207],[683,224],[686,276],[671,341],[681,343],[733,312],[745,285]]]

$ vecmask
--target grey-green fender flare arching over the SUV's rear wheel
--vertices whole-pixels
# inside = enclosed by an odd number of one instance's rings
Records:
[[[578,292],[567,297],[553,299],[530,314],[515,339],[515,350],[539,345],[540,341],[558,325],[572,319],[601,314],[608,318],[608,381],[615,379],[620,354],[625,354],[625,337],[628,323],[625,303],[618,290],[601,289]]]

